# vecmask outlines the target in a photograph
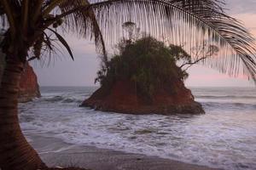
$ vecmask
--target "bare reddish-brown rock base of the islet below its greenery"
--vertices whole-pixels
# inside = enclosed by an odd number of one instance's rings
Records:
[[[109,90],[102,87],[96,90],[81,106],[100,111],[114,111],[128,114],[203,114],[201,104],[195,102],[194,96],[182,81],[177,80],[172,89],[159,88],[151,101],[137,94],[137,88],[131,81],[115,82]]]

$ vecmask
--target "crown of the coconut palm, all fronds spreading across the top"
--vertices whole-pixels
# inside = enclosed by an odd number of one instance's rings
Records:
[[[34,47],[32,59],[39,58],[41,50],[54,49],[51,33],[73,56],[64,38],[49,29],[60,26],[94,39],[106,63],[103,37],[105,42],[117,42],[122,23],[132,20],[154,37],[186,44],[188,51],[206,42],[217,44],[222,48],[218,57],[204,59],[202,64],[234,76],[242,65],[247,77],[255,81],[254,38],[239,21],[224,13],[223,5],[222,0],[2,0],[0,14],[2,26],[9,28],[6,46],[21,34],[19,41]],[[11,48],[6,46],[5,50]]]

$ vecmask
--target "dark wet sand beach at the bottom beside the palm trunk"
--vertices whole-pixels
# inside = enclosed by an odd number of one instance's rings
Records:
[[[55,137],[37,134],[26,134],[26,137],[31,139],[29,143],[49,167],[84,167],[91,170],[217,170],[157,156],[67,144]]]

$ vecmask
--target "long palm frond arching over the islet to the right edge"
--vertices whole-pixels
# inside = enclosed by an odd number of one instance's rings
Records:
[[[256,81],[254,38],[239,21],[224,13],[223,1],[98,0],[90,3],[107,41],[117,42],[122,23],[131,20],[154,37],[183,44],[187,51],[205,42],[209,46],[218,45],[221,48],[218,56],[203,59],[203,65],[230,76],[243,72]]]

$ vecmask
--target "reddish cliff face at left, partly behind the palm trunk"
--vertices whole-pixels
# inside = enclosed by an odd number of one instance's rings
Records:
[[[2,62],[3,64],[3,62]],[[3,74],[3,65],[0,65],[0,84]],[[40,97],[38,86],[38,78],[33,71],[32,67],[27,63],[24,72],[20,77],[20,94],[19,102],[31,101],[36,97]]]

